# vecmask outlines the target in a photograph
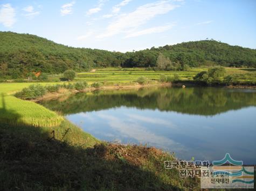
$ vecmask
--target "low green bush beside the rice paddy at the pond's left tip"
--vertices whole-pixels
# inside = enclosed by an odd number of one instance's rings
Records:
[[[18,92],[15,94],[17,98],[22,98],[22,99],[34,99],[34,98],[39,98],[41,96],[44,96],[46,93],[46,89],[44,86],[40,84],[36,85],[30,85],[29,87],[26,87],[22,89],[22,91]]]

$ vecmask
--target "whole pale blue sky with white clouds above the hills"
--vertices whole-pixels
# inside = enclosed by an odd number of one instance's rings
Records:
[[[256,48],[254,0],[0,0],[0,31],[120,52],[185,41]]]

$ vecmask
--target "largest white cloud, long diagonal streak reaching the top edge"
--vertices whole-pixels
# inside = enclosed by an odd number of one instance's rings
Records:
[[[128,14],[122,14],[110,23],[106,32],[98,35],[98,38],[105,38],[107,36],[113,36],[128,30],[134,30],[154,17],[168,13],[169,11],[177,8],[179,5],[172,3],[172,1],[158,1],[155,3],[149,3],[139,6],[135,11]]]

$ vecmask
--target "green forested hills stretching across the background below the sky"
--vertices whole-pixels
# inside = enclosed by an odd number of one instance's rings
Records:
[[[0,77],[19,78],[28,72],[60,73],[94,67],[154,67],[162,53],[173,63],[197,67],[220,64],[256,67],[256,50],[230,46],[215,40],[183,42],[138,52],[109,52],[59,45],[36,35],[0,32]]]

